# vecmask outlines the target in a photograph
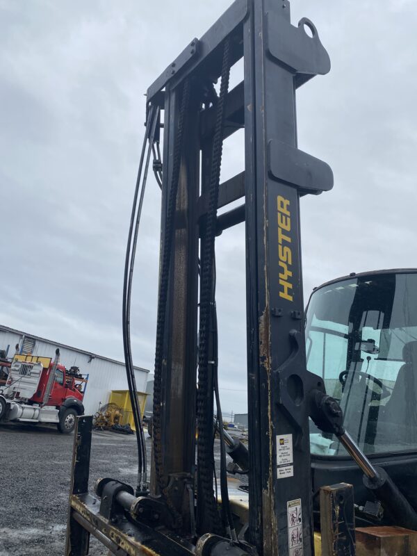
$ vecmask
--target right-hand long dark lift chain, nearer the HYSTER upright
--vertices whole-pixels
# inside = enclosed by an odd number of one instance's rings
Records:
[[[213,432],[213,407],[211,395],[213,384],[209,384],[209,336],[211,324],[211,297],[213,281],[213,257],[216,232],[216,215],[220,183],[220,165],[222,161],[222,134],[224,127],[224,104],[229,88],[229,38],[224,41],[220,95],[216,106],[215,133],[213,136],[213,153],[211,158],[211,176],[208,183],[208,211],[206,227],[201,247],[201,283],[199,310],[199,361],[197,389],[197,473],[202,499],[197,504],[204,507],[207,532],[222,534],[222,523],[217,509],[217,500],[213,493],[213,457],[211,455]],[[200,531],[206,532],[206,531]]]

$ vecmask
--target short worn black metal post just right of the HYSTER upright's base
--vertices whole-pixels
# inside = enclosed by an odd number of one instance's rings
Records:
[[[347,483],[320,489],[322,556],[354,556],[353,486]]]

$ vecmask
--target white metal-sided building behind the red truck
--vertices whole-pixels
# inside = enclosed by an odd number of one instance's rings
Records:
[[[83,375],[88,375],[83,401],[85,414],[95,414],[100,402],[101,404],[108,402],[112,390],[128,389],[126,368],[121,361],[0,325],[0,350],[6,350],[7,357],[13,358],[16,344],[19,344],[19,352],[52,359],[55,357],[56,348],[59,347],[60,363],[66,368],[77,366]],[[136,386],[139,392],[146,391],[148,373],[147,369],[135,367]]]

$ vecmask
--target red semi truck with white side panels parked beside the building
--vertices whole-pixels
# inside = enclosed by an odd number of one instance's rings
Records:
[[[56,423],[60,432],[72,432],[76,416],[84,413],[87,380],[79,368],[60,365],[59,350],[54,361],[16,355],[0,386],[0,422]]]

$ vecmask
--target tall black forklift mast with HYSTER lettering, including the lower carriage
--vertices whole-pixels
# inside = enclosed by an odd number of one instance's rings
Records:
[[[240,58],[244,79],[229,90]],[[316,27],[293,26],[288,0],[236,0],[147,90],[149,144],[163,127],[150,491],[106,479],[96,504],[80,418],[67,556],[88,554],[90,533],[117,554],[313,555],[307,394],[322,384],[306,371],[300,197],[330,190],[333,175],[297,148],[295,96],[329,69]],[[220,183],[222,142],[239,129],[245,171]],[[243,221],[249,516],[228,540],[213,492],[215,238]]]

